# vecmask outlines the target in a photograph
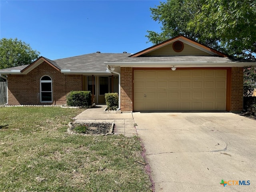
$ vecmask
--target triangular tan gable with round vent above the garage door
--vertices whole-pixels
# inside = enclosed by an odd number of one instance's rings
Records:
[[[182,45],[182,51],[174,50],[174,45],[179,42]],[[160,44],[154,45],[150,48],[144,49],[140,52],[133,54],[131,57],[138,56],[173,56],[173,55],[208,55],[208,56],[221,56],[228,57],[227,55],[219,52],[213,48],[200,44],[190,38],[179,35]]]

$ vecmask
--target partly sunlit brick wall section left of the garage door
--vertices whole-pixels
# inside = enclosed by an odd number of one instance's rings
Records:
[[[121,111],[132,112],[132,68],[121,67]]]

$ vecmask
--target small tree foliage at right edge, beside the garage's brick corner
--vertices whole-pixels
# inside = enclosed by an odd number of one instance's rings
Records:
[[[246,68],[244,72],[250,71],[253,68]],[[256,71],[244,74],[244,97],[252,96],[256,89]]]

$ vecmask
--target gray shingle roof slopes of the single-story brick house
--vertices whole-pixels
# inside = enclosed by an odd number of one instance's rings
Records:
[[[236,58],[224,58],[218,56],[140,56],[129,57],[129,53],[91,53],[69,58],[50,60],[48,62],[62,69],[82,72],[102,72],[106,71],[104,62],[255,62],[252,60],[242,60]],[[28,65],[2,69],[0,72],[10,70],[23,70]]]

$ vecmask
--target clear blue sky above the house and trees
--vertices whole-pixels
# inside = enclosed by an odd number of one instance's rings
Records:
[[[18,38],[51,60],[136,53],[160,32],[150,7],[164,0],[0,0],[0,38]]]

